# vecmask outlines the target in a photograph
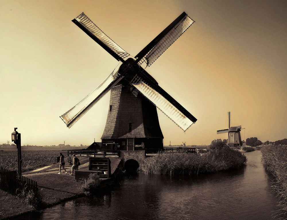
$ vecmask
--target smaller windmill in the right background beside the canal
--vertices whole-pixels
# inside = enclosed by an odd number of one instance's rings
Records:
[[[228,133],[227,145],[232,147],[242,146],[241,125],[230,127],[230,112],[228,112],[228,129],[218,130],[217,134]]]

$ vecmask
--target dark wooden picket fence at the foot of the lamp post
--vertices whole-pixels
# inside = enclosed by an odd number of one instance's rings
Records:
[[[27,177],[18,178],[16,171],[9,171],[0,167],[0,189],[13,195],[26,194],[32,190],[38,196],[37,182]]]

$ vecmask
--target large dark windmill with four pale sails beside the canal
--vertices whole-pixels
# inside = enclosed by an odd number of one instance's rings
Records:
[[[77,105],[60,116],[70,128],[109,90],[110,105],[102,143],[116,143],[120,149],[163,148],[163,135],[156,107],[186,131],[196,118],[164,91],[145,68],[193,24],[183,12],[135,57],[123,50],[84,13],[72,20],[88,36],[119,61],[106,80]]]

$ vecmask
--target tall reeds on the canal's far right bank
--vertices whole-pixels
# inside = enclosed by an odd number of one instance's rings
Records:
[[[278,194],[278,206],[281,212],[276,213],[276,218],[287,218],[287,146],[265,145],[261,148],[262,162],[271,172],[273,180],[272,188]]]

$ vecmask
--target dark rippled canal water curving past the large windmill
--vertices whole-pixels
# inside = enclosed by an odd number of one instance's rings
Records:
[[[78,198],[18,219],[273,219],[275,194],[261,152],[240,170],[197,177],[125,176],[110,192]]]

